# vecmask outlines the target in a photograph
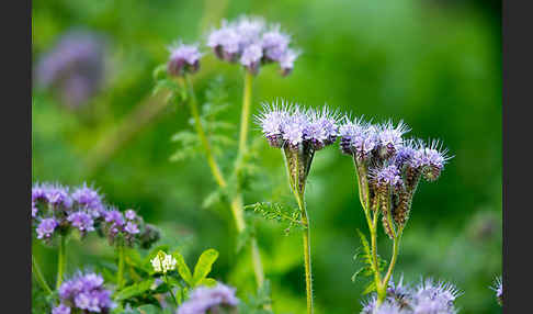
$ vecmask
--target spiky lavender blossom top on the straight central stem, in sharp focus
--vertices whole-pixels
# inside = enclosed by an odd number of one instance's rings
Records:
[[[316,111],[283,101],[281,105],[264,103],[256,120],[269,144],[276,148],[305,146],[319,150],[333,144],[339,134],[339,116],[327,106]]]

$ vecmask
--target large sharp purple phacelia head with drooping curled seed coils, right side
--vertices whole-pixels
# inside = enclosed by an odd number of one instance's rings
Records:
[[[409,131],[401,121],[395,126],[348,116],[339,126],[341,152],[355,161],[363,206],[382,212],[390,238],[408,220],[420,178],[436,180],[451,158],[439,141],[405,139]]]

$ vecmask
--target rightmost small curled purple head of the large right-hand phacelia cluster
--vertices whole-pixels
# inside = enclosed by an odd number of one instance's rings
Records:
[[[419,143],[419,148],[415,152],[410,166],[422,169],[426,180],[434,181],[440,177],[444,165],[452,157],[447,156],[447,149],[442,148],[439,141],[432,141],[429,146],[426,146],[422,141]]]

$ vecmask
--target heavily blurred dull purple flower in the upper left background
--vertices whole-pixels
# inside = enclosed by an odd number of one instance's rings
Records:
[[[56,89],[66,105],[78,108],[101,88],[104,56],[105,44],[99,35],[68,32],[39,60],[36,81],[41,87]]]

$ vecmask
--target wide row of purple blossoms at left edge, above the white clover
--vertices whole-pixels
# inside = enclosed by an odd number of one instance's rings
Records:
[[[48,244],[56,235],[67,236],[72,231],[81,237],[98,232],[111,243],[121,236],[127,245],[139,243],[144,248],[159,239],[157,229],[145,224],[135,211],[123,214],[109,209],[99,191],[87,183],[76,188],[35,183],[31,215],[36,237]]]

